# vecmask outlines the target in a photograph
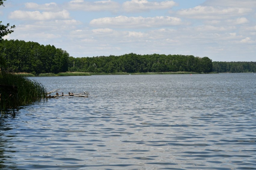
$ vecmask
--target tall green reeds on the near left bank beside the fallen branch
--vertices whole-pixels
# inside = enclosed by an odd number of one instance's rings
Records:
[[[17,92],[0,86],[1,116],[18,106],[46,99],[47,91],[41,83],[32,81],[20,74],[2,73],[0,84],[17,86]]]

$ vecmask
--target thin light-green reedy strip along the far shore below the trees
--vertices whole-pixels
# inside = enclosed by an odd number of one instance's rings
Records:
[[[89,72],[62,72],[62,73],[41,73],[38,76],[31,73],[15,73],[25,77],[49,77],[49,76],[90,76],[90,75],[163,75],[163,74],[216,74],[218,72],[198,73],[198,72],[146,72],[146,73],[89,73]]]

